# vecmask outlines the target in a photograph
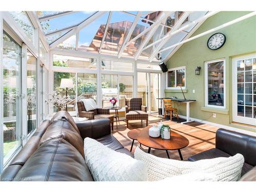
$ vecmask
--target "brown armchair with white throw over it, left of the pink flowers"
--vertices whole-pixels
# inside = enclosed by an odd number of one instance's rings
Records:
[[[84,106],[82,101],[77,102],[77,109],[79,117],[86,117],[88,119],[102,119],[108,118],[111,122],[111,129],[114,129],[114,116],[110,115],[109,109],[98,108],[91,111],[86,111],[86,107]]]

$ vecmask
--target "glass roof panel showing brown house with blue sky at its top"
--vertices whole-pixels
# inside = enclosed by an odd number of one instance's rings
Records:
[[[123,12],[113,12],[109,28],[102,46],[102,53],[117,55],[129,32],[135,16]]]

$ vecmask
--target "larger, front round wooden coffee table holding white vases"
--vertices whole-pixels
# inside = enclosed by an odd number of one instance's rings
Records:
[[[180,149],[186,147],[189,144],[189,141],[184,136],[173,132],[172,129],[170,131],[170,139],[162,139],[161,137],[151,137],[148,135],[148,129],[152,126],[147,126],[137,136],[137,140],[144,146],[148,147],[147,153],[150,153],[151,148],[155,148],[157,150],[165,150],[167,157],[169,157],[168,150],[178,150],[180,159],[183,160]]]

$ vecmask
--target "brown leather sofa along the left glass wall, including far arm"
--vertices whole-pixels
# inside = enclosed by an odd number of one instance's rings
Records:
[[[60,111],[45,120],[1,175],[1,181],[93,181],[84,161],[83,139],[94,138],[133,157],[111,135],[109,119],[75,123]]]

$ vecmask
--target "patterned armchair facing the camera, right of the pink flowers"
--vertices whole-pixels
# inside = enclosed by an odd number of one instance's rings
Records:
[[[148,124],[148,114],[146,113],[147,107],[142,105],[142,98],[126,98],[125,99],[126,110],[126,125],[128,128],[129,120],[146,120],[146,126]]]

